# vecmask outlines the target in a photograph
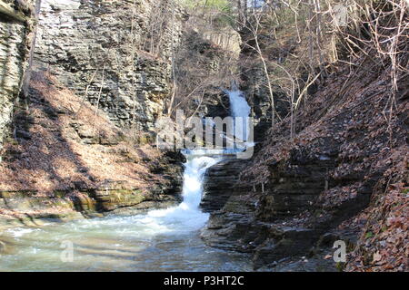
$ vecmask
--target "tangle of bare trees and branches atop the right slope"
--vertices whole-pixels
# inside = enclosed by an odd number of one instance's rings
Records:
[[[274,119],[289,116],[293,138],[297,111],[304,110],[316,86],[341,63],[360,67],[367,60],[374,65],[370,70],[385,70],[392,64],[392,95],[384,108],[391,118],[398,79],[402,82],[408,73],[405,1],[264,1],[261,8],[247,8],[237,19],[244,40],[242,71],[263,72],[262,91],[274,108],[267,118],[272,126]],[[335,93],[342,94],[347,85]],[[285,110],[277,113],[277,102],[286,103]]]

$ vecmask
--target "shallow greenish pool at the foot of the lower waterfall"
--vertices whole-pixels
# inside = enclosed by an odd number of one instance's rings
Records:
[[[155,232],[141,218],[15,228],[5,233],[15,245],[0,271],[251,271],[248,256],[205,246],[198,230]]]

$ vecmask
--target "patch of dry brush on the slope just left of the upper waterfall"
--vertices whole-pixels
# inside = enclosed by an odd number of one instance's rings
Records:
[[[230,86],[236,73],[234,53],[225,51],[203,38],[191,27],[184,35],[185,45],[180,47],[175,59],[175,110],[187,115],[195,113],[209,98],[220,95]]]

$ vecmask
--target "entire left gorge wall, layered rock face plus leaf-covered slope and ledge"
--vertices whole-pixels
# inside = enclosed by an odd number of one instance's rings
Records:
[[[0,221],[138,211],[180,200],[183,159],[141,137],[166,108],[182,11],[170,9],[173,1],[42,1],[33,77],[25,79],[24,102],[15,102],[34,10],[8,2],[0,2],[0,140],[8,125],[15,134],[0,163]]]

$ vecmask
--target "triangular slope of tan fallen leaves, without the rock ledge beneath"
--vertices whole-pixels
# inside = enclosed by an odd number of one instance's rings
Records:
[[[136,148],[103,111],[95,114],[95,107],[52,76],[36,73],[29,96],[28,111],[15,112],[15,140],[5,146],[0,190],[48,194],[114,181],[129,189],[165,182],[148,165],[161,152],[149,145]]]

